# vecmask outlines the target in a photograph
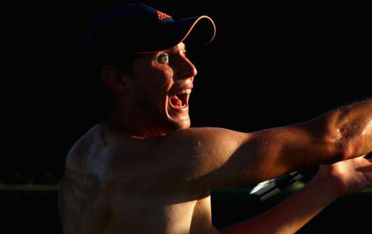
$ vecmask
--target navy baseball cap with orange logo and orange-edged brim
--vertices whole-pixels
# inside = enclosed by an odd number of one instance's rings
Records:
[[[208,44],[215,33],[215,24],[208,16],[177,20],[145,4],[126,4],[93,20],[85,35],[84,50],[153,53],[176,46],[188,37]]]

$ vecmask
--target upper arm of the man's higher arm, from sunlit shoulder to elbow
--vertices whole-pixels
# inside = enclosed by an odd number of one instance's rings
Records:
[[[236,187],[327,161],[334,149],[313,132],[306,125],[254,133],[192,128],[175,131],[164,147],[178,155],[172,159],[179,176],[174,178],[191,189]]]

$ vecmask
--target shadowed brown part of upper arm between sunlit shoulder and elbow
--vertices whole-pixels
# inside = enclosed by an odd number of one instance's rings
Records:
[[[256,184],[339,158],[334,142],[303,123],[247,134],[219,171],[228,186]],[[224,184],[224,185],[225,185]]]

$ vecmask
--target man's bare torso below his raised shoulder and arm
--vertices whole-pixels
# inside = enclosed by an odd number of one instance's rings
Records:
[[[136,152],[134,146],[130,152]],[[149,186],[140,183],[160,181],[162,187],[163,178],[157,178],[156,173],[147,178],[148,170],[140,167],[145,164],[135,160],[141,155],[127,152],[127,160],[121,165],[110,161],[110,154],[100,144],[98,134],[71,149],[62,183],[63,226],[67,233],[209,233],[208,193],[147,191],[143,188]],[[133,179],[121,183],[112,175]]]

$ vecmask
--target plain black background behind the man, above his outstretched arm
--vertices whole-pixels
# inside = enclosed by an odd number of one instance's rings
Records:
[[[10,14],[4,50],[12,78],[6,91],[14,105],[6,104],[10,163],[3,164],[3,184],[57,184],[72,144],[100,121],[86,98],[92,87],[78,70],[79,47],[93,18],[123,3],[4,9]],[[145,3],[175,19],[208,15],[216,24],[212,43],[188,48],[198,69],[189,101],[192,127],[253,132],[371,96],[364,6]]]

